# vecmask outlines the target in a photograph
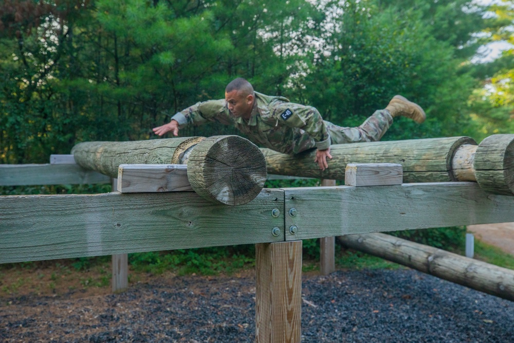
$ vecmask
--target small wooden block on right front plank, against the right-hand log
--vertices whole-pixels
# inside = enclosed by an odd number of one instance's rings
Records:
[[[396,163],[348,163],[344,173],[347,186],[389,186],[402,182],[402,167]]]

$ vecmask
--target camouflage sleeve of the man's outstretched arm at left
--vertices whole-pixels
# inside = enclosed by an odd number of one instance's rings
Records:
[[[177,112],[171,119],[178,122],[180,129],[191,124],[195,126],[205,124],[208,121],[225,125],[233,123],[224,99],[197,102],[187,109]]]

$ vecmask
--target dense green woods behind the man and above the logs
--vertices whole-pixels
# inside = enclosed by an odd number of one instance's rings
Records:
[[[428,121],[384,139],[512,131],[513,2],[5,0],[0,4],[0,163],[47,163],[86,140],[151,128],[245,77],[256,90],[359,124],[403,94]],[[221,125],[182,135],[235,133]]]

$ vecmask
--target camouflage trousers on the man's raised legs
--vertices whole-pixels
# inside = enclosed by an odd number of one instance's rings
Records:
[[[393,123],[388,110],[378,110],[356,128],[343,128],[324,120],[332,144],[373,142],[380,140]]]

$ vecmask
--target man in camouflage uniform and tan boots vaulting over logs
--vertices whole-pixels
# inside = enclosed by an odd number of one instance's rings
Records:
[[[331,144],[377,141],[391,127],[393,118],[404,116],[421,123],[425,112],[406,98],[396,95],[387,107],[378,110],[356,128],[344,128],[323,120],[312,106],[289,102],[284,97],[267,96],[253,91],[247,80],[237,78],[225,89],[225,99],[198,102],[178,112],[171,122],[154,128],[162,136],[188,124],[217,121],[234,125],[251,141],[285,154],[317,148],[315,162],[321,170],[328,167]]]

